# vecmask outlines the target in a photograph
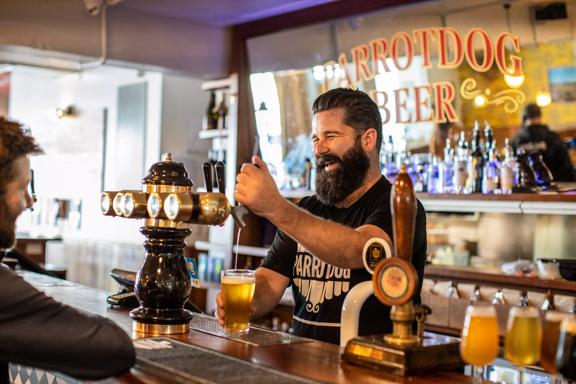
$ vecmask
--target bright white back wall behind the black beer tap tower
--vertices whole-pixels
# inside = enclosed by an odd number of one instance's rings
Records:
[[[118,87],[139,82],[147,84],[146,148],[116,140]],[[144,255],[140,220],[100,213],[103,189],[140,187],[118,180],[116,153],[121,149],[129,157],[131,151],[144,151],[148,169],[162,152],[171,151],[191,171],[195,185],[202,186],[201,162],[207,158],[209,143],[197,138],[207,104],[201,81],[108,66],[79,73],[15,66],[11,91],[11,117],[26,123],[45,150],[31,159],[39,206],[22,215],[18,230],[62,235],[62,242],[49,244],[47,261],[65,265],[73,281],[111,289],[110,269],[136,270]],[[74,105],[77,115],[58,119],[56,108],[66,105]],[[54,219],[54,206],[48,203],[55,198],[82,201],[80,228]],[[206,232],[194,228],[188,243],[207,238]]]

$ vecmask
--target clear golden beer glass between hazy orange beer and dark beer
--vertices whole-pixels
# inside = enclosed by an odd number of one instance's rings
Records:
[[[504,357],[519,366],[534,364],[540,360],[542,327],[538,310],[514,307],[510,310]]]

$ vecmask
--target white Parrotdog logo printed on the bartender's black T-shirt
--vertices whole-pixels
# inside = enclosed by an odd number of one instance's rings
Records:
[[[293,269],[294,285],[306,299],[306,310],[318,313],[320,304],[350,290],[350,269],[335,267],[298,244]]]

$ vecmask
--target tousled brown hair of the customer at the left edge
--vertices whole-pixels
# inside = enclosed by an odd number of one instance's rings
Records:
[[[42,153],[42,148],[22,124],[0,117],[0,195],[16,176],[14,160],[28,154]]]

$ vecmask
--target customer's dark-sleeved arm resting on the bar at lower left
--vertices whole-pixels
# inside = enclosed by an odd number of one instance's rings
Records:
[[[132,340],[110,320],[58,303],[1,266],[0,292],[0,361],[88,380],[134,365]]]

